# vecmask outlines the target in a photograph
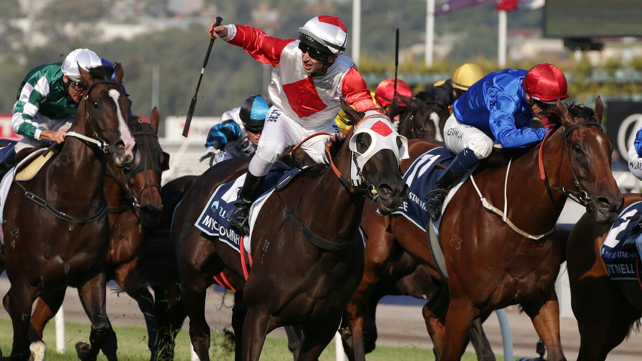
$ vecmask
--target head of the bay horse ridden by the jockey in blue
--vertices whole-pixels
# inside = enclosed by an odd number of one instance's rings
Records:
[[[593,209],[600,223],[611,223],[620,213],[624,198],[611,173],[613,145],[602,131],[604,105],[600,97],[595,110],[582,105],[566,107],[557,101],[553,110],[559,117],[561,137],[558,186]]]

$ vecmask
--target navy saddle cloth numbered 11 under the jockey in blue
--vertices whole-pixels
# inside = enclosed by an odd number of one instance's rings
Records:
[[[426,225],[431,224],[431,219],[428,211],[426,211],[424,195],[435,187],[437,179],[446,170],[444,167],[452,163],[453,159],[455,159],[455,154],[443,146],[428,150],[428,152],[417,157],[403,175],[403,179],[406,181],[406,184],[408,184],[410,192],[406,195],[406,199],[401,203],[399,209],[394,213],[408,218],[410,222],[413,222],[413,224],[425,232]],[[470,172],[462,177],[460,182],[449,191],[444,201],[444,206],[442,206],[442,215],[446,211],[446,207],[453,198],[453,195],[455,195],[457,190],[464,184],[469,175]],[[437,234],[440,222],[441,216],[439,216],[437,222],[432,222]]]

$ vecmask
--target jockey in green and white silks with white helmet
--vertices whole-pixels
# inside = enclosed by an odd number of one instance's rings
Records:
[[[86,90],[79,65],[89,71],[102,62],[93,51],[76,49],[64,62],[35,67],[22,80],[12,117],[13,131],[24,136],[15,145],[16,153],[49,141],[64,141]]]

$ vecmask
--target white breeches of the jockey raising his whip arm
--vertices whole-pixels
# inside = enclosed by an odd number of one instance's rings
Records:
[[[339,127],[334,119],[328,119],[324,125],[317,127],[304,127],[299,122],[286,116],[277,107],[268,110],[265,117],[263,132],[259,138],[256,153],[250,161],[248,170],[252,175],[261,177],[266,175],[272,164],[281,157],[285,148],[297,145],[300,141],[317,132],[336,133]],[[329,136],[317,136],[303,143],[300,148],[306,152],[316,163],[325,163],[325,143]]]

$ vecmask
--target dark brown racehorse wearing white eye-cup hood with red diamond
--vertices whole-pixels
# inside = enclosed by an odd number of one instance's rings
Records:
[[[394,114],[396,105],[391,108],[394,109],[390,114]],[[384,123],[388,119],[383,115],[363,118],[363,113],[356,112],[345,101],[342,109],[349,123],[360,123],[347,135],[334,135],[327,144],[331,168],[313,166],[300,173],[287,188],[266,200],[256,218],[250,240],[256,262],[247,283],[234,297],[232,326],[237,337],[237,358],[257,360],[265,335],[279,326],[302,326],[305,339],[299,360],[317,360],[332,340],[343,307],[363,271],[363,245],[355,240],[366,192],[344,183],[343,178],[350,171],[353,157],[361,157],[366,151],[372,155],[359,168],[370,194],[378,195],[375,198],[379,211],[388,213],[396,209],[406,194],[408,188],[401,179],[396,155],[405,154],[404,139]],[[374,130],[359,129],[360,124],[369,126],[376,118],[381,118],[375,123],[377,127],[385,127],[377,128],[378,131],[392,132],[396,144],[388,146],[394,146],[394,150],[381,150],[392,142],[381,139],[375,142],[376,134],[369,133]],[[370,145],[373,149],[369,149]],[[230,159],[206,171],[187,190],[173,221],[172,236],[182,299],[190,320],[189,333],[202,361],[209,360],[210,343],[204,317],[205,290],[224,267],[236,274],[243,271],[236,250],[216,238],[205,238],[193,224],[207,202],[204,195],[243,174],[247,164],[247,159]],[[320,246],[306,240],[297,226],[300,222],[305,225],[305,228],[300,225],[301,230],[308,235],[316,234],[309,237]]]

